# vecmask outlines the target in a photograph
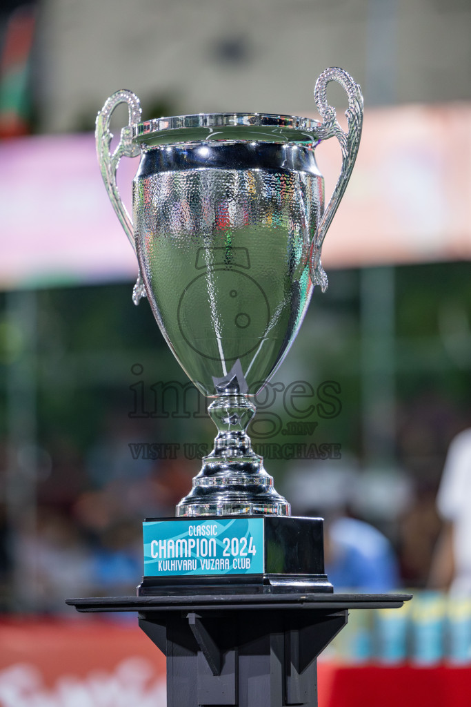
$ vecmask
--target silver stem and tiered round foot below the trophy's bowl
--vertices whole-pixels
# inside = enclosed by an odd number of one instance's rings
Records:
[[[246,395],[219,395],[210,404],[208,413],[217,427],[214,449],[178,504],[178,517],[290,515],[290,504],[275,491],[246,433],[255,411]]]

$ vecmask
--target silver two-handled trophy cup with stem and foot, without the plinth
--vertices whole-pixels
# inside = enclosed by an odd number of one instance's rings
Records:
[[[348,132],[328,105],[330,81],[347,92]],[[323,71],[314,98],[322,121],[217,113],[141,122],[138,98],[128,90],[110,96],[97,116],[102,177],[138,257],[134,303],[147,296],[177,361],[212,399],[214,449],[177,516],[290,515],[246,428],[314,286],[327,287],[321,247],[352,172],[363,117],[361,90],[342,69]],[[129,125],[110,153],[109,121],[121,103]],[[342,169],[324,208],[314,152],[333,136]],[[116,174],[121,157],[138,155],[131,222]]]

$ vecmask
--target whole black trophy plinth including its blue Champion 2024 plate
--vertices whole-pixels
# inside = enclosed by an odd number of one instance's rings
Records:
[[[148,518],[138,596],[333,592],[322,518]]]

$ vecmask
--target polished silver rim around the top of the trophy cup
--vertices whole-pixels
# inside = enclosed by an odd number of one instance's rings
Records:
[[[275,113],[193,113],[153,118],[132,125],[133,139],[142,141],[163,131],[181,129],[212,129],[225,127],[282,128],[307,131],[310,139],[316,139],[316,129],[321,122],[314,118]]]

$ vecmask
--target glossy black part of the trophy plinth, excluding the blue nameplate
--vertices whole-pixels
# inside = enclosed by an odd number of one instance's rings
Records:
[[[205,516],[232,520],[231,516]],[[323,519],[296,516],[247,516],[263,522],[263,572],[251,574],[145,576],[138,585],[139,597],[156,595],[285,594],[287,592],[333,592],[324,573]],[[172,523],[185,518],[146,518]],[[198,518],[201,521],[201,518]]]

